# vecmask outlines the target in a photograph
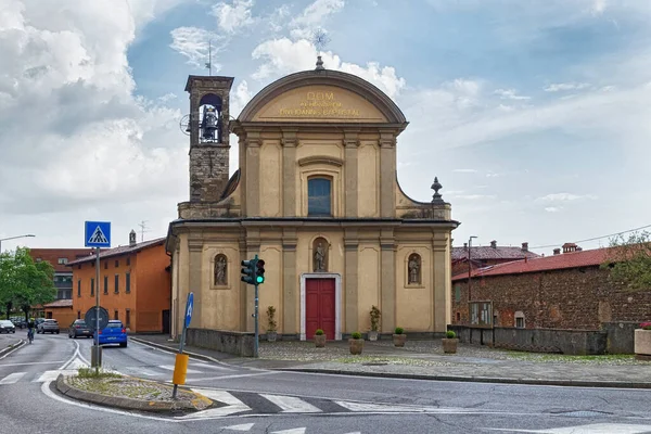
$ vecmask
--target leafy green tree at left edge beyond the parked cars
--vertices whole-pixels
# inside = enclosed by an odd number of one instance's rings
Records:
[[[7,308],[8,318],[11,310],[18,307],[27,319],[31,306],[54,301],[53,275],[52,265],[35,263],[28,248],[18,247],[13,254],[0,255],[0,302]]]

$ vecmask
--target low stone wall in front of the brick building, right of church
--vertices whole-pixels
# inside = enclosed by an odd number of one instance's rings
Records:
[[[462,343],[496,348],[567,355],[605,354],[608,332],[601,330],[470,328],[448,326]]]

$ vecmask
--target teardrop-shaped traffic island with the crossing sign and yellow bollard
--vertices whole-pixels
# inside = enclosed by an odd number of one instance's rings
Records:
[[[174,397],[174,387],[169,384],[113,372],[60,374],[55,387],[59,393],[75,400],[158,414],[178,416],[225,405],[184,387],[179,387]]]

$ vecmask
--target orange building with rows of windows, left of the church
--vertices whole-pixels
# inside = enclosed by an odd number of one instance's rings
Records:
[[[165,239],[136,242],[100,252],[100,282],[95,283],[95,255],[68,263],[73,268],[73,311],[84,318],[95,305],[111,319],[119,319],[132,332],[169,333],[171,280]]]

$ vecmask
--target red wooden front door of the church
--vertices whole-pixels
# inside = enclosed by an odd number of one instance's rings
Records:
[[[334,279],[307,279],[305,282],[305,334],[312,339],[322,329],[326,339],[334,340]]]

